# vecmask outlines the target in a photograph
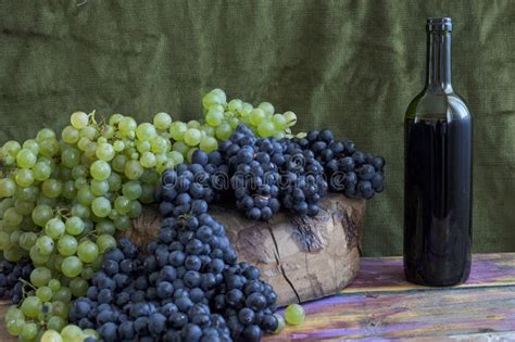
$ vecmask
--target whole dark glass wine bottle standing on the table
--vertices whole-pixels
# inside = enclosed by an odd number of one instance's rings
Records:
[[[426,87],[404,121],[404,274],[453,286],[470,271],[472,117],[451,86],[451,18],[426,29]]]

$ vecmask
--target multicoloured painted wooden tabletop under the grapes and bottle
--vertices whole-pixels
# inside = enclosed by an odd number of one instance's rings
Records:
[[[350,287],[303,307],[304,324],[264,340],[515,341],[515,253],[474,255],[468,281],[453,288],[406,282],[400,257],[362,258]],[[0,341],[14,341],[3,327]]]

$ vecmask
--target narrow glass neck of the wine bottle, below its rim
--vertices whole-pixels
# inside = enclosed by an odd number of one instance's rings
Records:
[[[427,34],[426,87],[451,92],[451,34],[429,31]]]

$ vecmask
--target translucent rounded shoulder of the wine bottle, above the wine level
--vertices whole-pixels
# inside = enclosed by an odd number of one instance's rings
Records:
[[[407,106],[405,118],[470,119],[470,111],[465,100],[452,89],[450,91],[424,89]]]

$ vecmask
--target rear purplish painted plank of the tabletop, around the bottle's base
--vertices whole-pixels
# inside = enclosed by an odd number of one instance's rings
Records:
[[[515,253],[475,254],[467,282],[456,289],[515,286]],[[402,257],[364,257],[356,279],[343,293],[428,290],[404,279]]]

